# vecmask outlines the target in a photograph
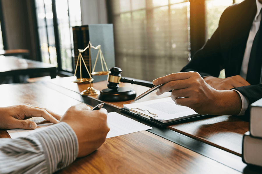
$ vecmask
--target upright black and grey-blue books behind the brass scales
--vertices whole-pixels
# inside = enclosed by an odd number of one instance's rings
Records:
[[[88,43],[92,44],[92,46],[96,47],[101,45],[101,50],[104,55],[106,64],[108,69],[115,66],[115,50],[114,50],[114,32],[113,32],[113,24],[89,24],[82,26],[73,26],[73,43],[74,43],[74,68],[77,65],[77,59],[79,51],[78,49],[83,50],[88,46]],[[89,54],[91,55],[91,62],[89,62]],[[96,57],[98,55],[98,50],[89,49],[82,53],[84,62],[89,69],[89,64],[91,66],[91,70],[93,65],[95,64]],[[98,61],[100,61],[100,57],[98,57]],[[78,68],[76,72],[77,79],[80,78],[80,63],[78,62]],[[81,64],[82,69],[82,78],[89,78],[89,75],[86,71],[84,64]],[[75,69],[74,69],[75,71]],[[98,62],[95,67],[95,71],[102,71],[101,62]],[[107,76],[99,76],[95,77],[93,82],[107,80]]]

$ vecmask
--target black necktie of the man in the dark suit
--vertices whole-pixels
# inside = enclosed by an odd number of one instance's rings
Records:
[[[262,17],[261,17],[262,21]],[[262,68],[262,22],[254,38],[247,68],[247,81],[251,85],[260,83]]]

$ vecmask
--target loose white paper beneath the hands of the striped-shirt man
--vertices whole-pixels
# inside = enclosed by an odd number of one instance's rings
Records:
[[[108,113],[107,124],[110,128],[107,138],[152,129],[150,126],[137,122],[116,112]],[[14,139],[17,137],[29,136],[32,133],[41,131],[43,128],[46,128],[46,126],[50,125],[52,125],[52,123],[39,124],[35,130],[10,129],[7,130],[7,132],[10,137]]]

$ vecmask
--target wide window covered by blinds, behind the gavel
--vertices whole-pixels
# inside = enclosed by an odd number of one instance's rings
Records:
[[[122,76],[152,81],[191,59],[190,2],[111,0],[116,66]]]

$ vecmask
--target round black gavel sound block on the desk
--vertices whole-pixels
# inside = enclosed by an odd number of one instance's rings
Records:
[[[125,101],[136,98],[137,93],[132,88],[121,87],[117,90],[103,89],[98,95],[98,99],[102,101]]]

